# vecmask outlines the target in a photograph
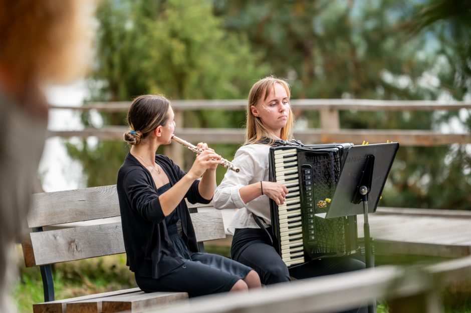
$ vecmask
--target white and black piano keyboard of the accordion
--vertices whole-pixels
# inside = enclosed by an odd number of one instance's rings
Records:
[[[275,151],[276,182],[288,188],[284,203],[278,206],[280,255],[287,266],[304,263],[304,243],[298,156],[296,149]]]

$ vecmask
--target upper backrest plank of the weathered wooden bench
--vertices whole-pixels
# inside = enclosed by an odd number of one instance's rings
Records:
[[[186,199],[185,199],[186,201]],[[188,208],[212,206],[191,204]],[[42,227],[119,216],[116,185],[35,193],[28,214],[28,227]]]

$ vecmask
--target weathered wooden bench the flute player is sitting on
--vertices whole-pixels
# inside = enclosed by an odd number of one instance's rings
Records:
[[[140,312],[188,297],[131,288],[55,300],[51,264],[125,252],[116,185],[37,193],[32,200],[28,227],[33,231],[22,237],[22,247],[26,266],[41,268],[45,300],[33,304],[34,313]],[[211,204],[187,204],[200,251],[203,241],[225,237],[220,211],[198,213]]]

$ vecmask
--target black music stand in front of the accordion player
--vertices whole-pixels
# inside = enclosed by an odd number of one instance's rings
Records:
[[[325,218],[363,214],[366,267],[373,267],[368,213],[374,213],[396,156],[398,143],[353,146],[349,149]],[[368,306],[374,312],[375,306]]]

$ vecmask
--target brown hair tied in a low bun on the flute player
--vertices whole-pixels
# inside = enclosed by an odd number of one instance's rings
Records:
[[[130,130],[124,133],[124,141],[138,145],[154,129],[168,121],[170,101],[162,95],[142,95],[129,107],[126,123]]]

